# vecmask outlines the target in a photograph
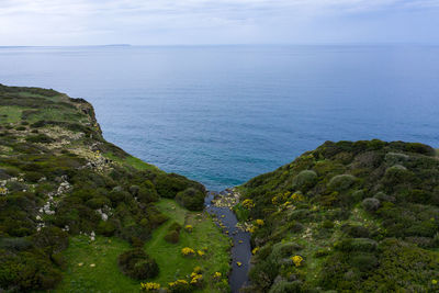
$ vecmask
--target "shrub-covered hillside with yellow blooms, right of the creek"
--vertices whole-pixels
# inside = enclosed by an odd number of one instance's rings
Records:
[[[415,143],[327,142],[240,188],[248,292],[438,292],[439,158]]]

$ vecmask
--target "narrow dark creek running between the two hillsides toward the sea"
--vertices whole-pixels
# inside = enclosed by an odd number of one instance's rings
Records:
[[[216,216],[216,224],[233,240],[232,247],[232,272],[229,284],[232,293],[238,293],[239,290],[248,284],[248,271],[250,268],[251,245],[250,234],[236,227],[238,223],[235,213],[225,206],[217,206],[212,203],[215,196],[227,196],[230,191],[213,192],[210,191],[205,199],[206,211]]]

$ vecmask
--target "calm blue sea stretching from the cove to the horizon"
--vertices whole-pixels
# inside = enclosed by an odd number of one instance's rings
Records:
[[[108,140],[211,190],[325,140],[439,147],[439,46],[0,47],[0,83],[87,99]]]

